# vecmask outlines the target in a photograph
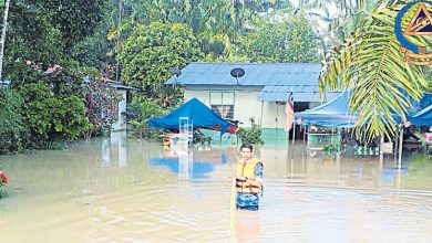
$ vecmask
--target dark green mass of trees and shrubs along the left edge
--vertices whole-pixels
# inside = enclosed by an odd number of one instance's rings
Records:
[[[80,65],[70,52],[99,24],[102,7],[100,0],[11,1],[3,57],[11,84],[2,91],[9,97],[0,115],[8,119],[1,152],[51,148],[90,129],[83,77],[95,67]]]

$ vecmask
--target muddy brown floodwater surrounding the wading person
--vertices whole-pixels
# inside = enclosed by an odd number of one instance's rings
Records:
[[[294,152],[292,152],[294,151]],[[236,148],[124,135],[0,157],[1,242],[432,242],[432,160],[257,148],[258,212],[233,209]]]

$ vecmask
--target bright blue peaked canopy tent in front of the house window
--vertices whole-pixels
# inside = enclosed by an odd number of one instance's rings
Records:
[[[188,117],[194,128],[215,129],[215,127],[220,127],[220,134],[225,134],[230,126],[228,120],[222,118],[197,98],[192,98],[161,118],[148,119],[148,125],[155,128],[178,129],[181,117]]]

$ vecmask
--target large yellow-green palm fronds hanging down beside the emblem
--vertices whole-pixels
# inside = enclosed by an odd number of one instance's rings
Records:
[[[400,1],[381,3],[357,25],[357,31],[326,64],[320,92],[326,87],[352,88],[350,107],[360,113],[358,129],[368,139],[392,135],[392,113],[405,117],[410,97],[418,101],[428,82],[419,66],[409,64],[400,53],[393,31]],[[411,17],[413,12],[411,12]],[[411,20],[404,18],[403,25]],[[362,134],[358,134],[361,136]]]

